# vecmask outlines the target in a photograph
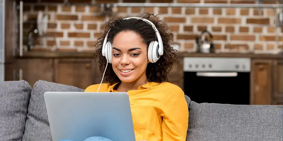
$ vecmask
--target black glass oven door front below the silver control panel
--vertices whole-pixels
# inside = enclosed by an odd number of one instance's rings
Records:
[[[184,92],[197,103],[250,104],[250,73],[236,76],[198,76],[184,72]]]

